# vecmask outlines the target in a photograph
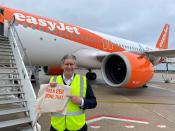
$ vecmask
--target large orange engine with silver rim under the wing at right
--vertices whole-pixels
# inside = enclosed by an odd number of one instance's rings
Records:
[[[102,75],[112,87],[139,88],[153,77],[154,68],[144,56],[129,52],[112,53],[103,59]]]

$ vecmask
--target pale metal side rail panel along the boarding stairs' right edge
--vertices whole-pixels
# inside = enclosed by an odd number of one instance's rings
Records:
[[[29,116],[32,121],[32,127],[33,129],[37,130],[38,124],[36,120],[38,118],[38,113],[36,112],[36,109],[35,109],[36,95],[33,90],[33,86],[31,84],[27,69],[23,62],[21,52],[18,48],[19,44],[17,44],[17,40],[15,39],[16,37],[15,37],[13,24],[9,25],[8,37],[9,37],[9,42],[12,45],[16,66],[18,68],[19,77],[21,78],[21,85],[23,86],[23,91],[25,93],[25,98],[27,100],[27,107],[29,109]]]

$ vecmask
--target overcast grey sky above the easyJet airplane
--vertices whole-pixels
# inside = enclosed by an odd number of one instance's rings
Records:
[[[169,47],[175,48],[174,0],[0,0],[0,4],[153,46],[168,23]]]

